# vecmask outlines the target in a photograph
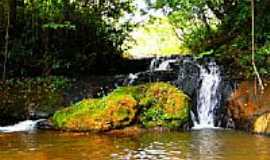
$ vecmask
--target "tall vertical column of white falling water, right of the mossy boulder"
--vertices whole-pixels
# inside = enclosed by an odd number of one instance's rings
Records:
[[[193,129],[216,128],[214,124],[214,110],[220,100],[217,93],[221,82],[219,67],[211,62],[208,70],[200,66],[201,86],[197,95],[198,121],[193,115]]]

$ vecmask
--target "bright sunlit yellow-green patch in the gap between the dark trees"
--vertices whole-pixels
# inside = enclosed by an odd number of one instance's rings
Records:
[[[182,41],[178,39],[177,30],[170,23],[167,17],[155,17],[131,32],[135,43],[128,44],[131,48],[126,52],[134,57],[147,56],[168,56],[189,53],[189,50],[182,47]]]

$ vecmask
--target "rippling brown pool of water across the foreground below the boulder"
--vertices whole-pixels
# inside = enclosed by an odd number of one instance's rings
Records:
[[[0,160],[270,160],[270,137],[224,130],[132,137],[61,132],[0,134]]]

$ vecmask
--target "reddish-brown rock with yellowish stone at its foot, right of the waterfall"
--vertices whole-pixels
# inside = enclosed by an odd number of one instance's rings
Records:
[[[237,129],[263,133],[264,129],[259,128],[269,123],[265,114],[270,112],[269,84],[261,94],[259,88],[255,90],[253,81],[242,82],[228,101],[228,112]]]

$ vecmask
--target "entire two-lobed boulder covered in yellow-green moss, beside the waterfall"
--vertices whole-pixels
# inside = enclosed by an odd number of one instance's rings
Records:
[[[133,124],[180,128],[189,121],[189,98],[166,83],[120,87],[101,99],[85,99],[52,117],[56,128],[107,131]]]

